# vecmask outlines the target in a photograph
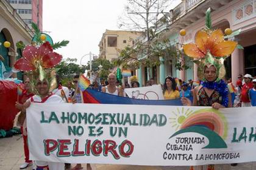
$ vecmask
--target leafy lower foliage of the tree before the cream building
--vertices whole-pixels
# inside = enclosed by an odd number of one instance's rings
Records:
[[[150,49],[146,49],[143,44],[139,44],[138,42],[135,47],[127,46],[125,49],[121,50],[118,60],[116,60],[114,64],[116,66],[122,66],[125,69],[138,69],[140,64],[147,67],[160,66],[160,56],[163,57],[164,60],[176,61],[174,66],[177,70],[190,68],[190,66],[184,64],[182,52],[171,45],[169,39],[155,39],[155,41],[151,43]]]

